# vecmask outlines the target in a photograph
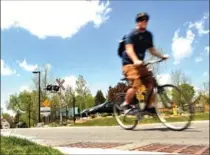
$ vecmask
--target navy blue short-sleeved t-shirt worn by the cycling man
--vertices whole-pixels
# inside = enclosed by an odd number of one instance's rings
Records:
[[[133,44],[134,52],[140,60],[144,60],[145,53],[148,48],[153,47],[152,33],[149,31],[139,32],[138,30],[132,30],[125,36],[125,45]],[[122,53],[123,65],[133,64],[127,53]]]

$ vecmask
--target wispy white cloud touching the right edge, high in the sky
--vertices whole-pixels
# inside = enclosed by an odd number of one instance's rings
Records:
[[[196,28],[198,31],[198,34],[200,36],[204,35],[204,34],[208,34],[209,33],[209,29],[204,29],[204,24],[208,23],[208,21],[206,22],[206,20],[209,19],[209,13],[204,14],[204,16],[202,17],[201,20],[198,20],[196,22],[190,22],[189,23],[189,28]]]

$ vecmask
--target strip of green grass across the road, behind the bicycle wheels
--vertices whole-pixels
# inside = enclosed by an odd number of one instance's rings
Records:
[[[134,119],[134,118],[129,118]],[[209,113],[197,113],[194,116],[193,120],[209,120]],[[170,122],[182,122],[183,118],[168,118],[167,121]],[[148,123],[160,123],[158,118],[143,118],[140,124],[148,124]],[[82,123],[76,123],[73,126],[116,126],[118,125],[116,119],[114,117],[100,117],[92,120],[87,120]]]

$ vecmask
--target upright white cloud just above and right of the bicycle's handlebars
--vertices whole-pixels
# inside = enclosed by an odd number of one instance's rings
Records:
[[[178,64],[181,59],[191,56],[192,43],[195,39],[195,34],[191,30],[187,30],[186,36],[179,36],[179,29],[175,31],[172,39],[172,52],[175,59],[174,64]]]

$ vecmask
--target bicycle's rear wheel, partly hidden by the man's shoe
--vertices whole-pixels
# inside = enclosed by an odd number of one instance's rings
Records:
[[[124,102],[124,100],[125,93],[120,93],[116,96],[113,103],[114,117],[123,129],[132,130],[137,126],[138,119],[135,114],[132,114],[132,110],[124,113],[124,111],[120,108],[120,105]]]

